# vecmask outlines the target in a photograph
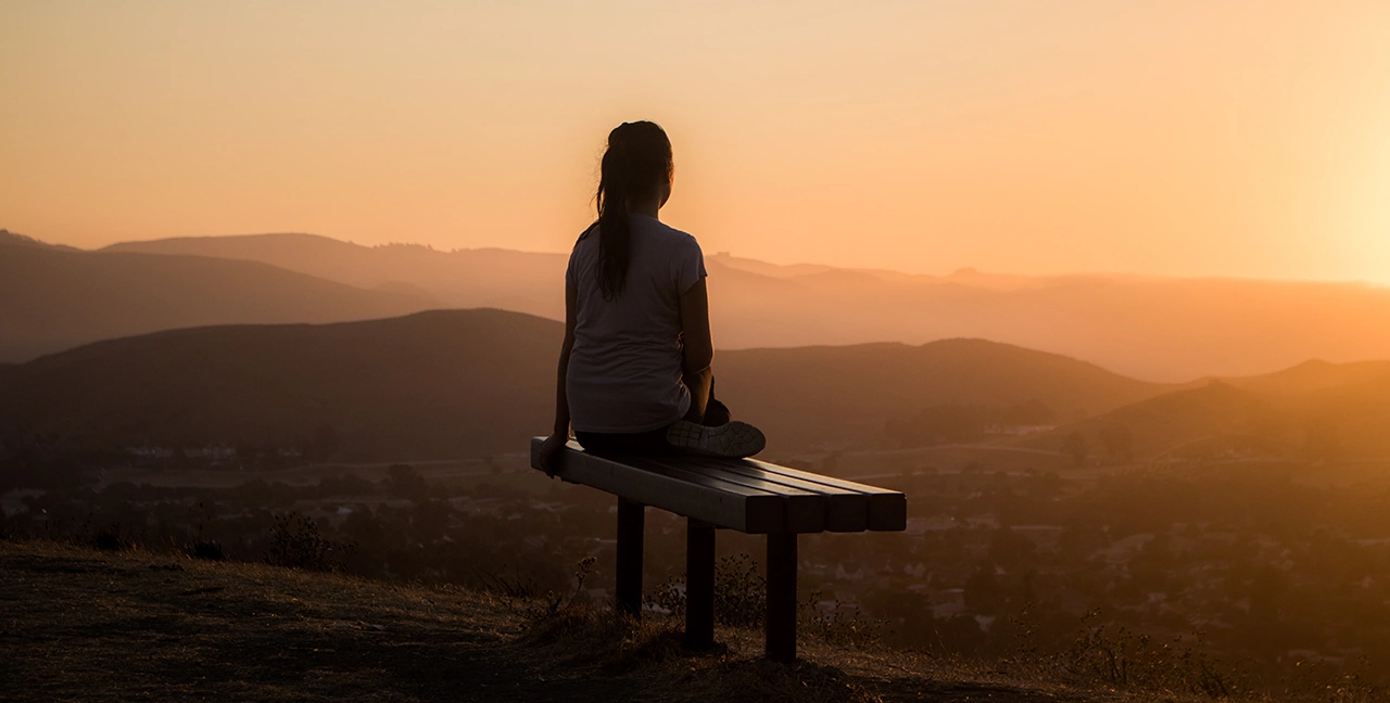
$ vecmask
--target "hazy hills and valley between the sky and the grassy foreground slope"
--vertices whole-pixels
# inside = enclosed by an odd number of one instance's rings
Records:
[[[299,235],[10,236],[0,538],[246,561],[300,539],[320,560],[300,567],[606,603],[612,500],[524,453],[550,421],[557,267]],[[826,636],[1062,667],[1083,689],[1120,685],[1113,652],[1134,690],[1383,681],[1359,661],[1390,660],[1390,361],[1300,352],[1375,357],[1382,290],[709,267],[719,396],[764,457],[909,495],[906,534],[805,538]],[[1223,358],[1275,371],[1209,372]],[[649,520],[648,597],[670,603],[684,532]],[[756,540],[720,553],[758,593]]]

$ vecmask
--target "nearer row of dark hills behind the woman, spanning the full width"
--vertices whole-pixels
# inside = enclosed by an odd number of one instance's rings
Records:
[[[327,436],[343,460],[517,452],[549,428],[560,336],[559,322],[534,315],[452,310],[113,339],[0,364],[0,428],[97,446],[306,452]],[[948,339],[721,350],[716,378],[717,395],[767,432],[774,453],[942,443],[1066,452],[1079,435],[1102,463],[1390,457],[1390,361],[1162,385]],[[1001,420],[1019,408],[1034,420]],[[974,429],[942,433],[942,422]],[[1011,425],[1030,424],[1058,427],[1011,438],[1020,429]]]

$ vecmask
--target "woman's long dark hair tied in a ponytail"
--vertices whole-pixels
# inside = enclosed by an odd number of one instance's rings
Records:
[[[652,197],[671,182],[671,140],[656,122],[623,122],[609,132],[599,167],[599,261],[595,274],[605,300],[623,295],[631,260],[631,203]]]

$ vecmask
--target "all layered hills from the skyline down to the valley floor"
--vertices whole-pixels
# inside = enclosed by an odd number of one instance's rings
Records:
[[[1036,403],[1059,427],[1016,443],[1058,450],[1080,433],[1093,458],[1390,454],[1390,363],[1334,363],[1390,357],[1386,289],[706,258],[717,393],[773,450],[940,443],[954,436],[931,429],[942,417]],[[0,360],[250,326],[0,365],[0,420],[126,443],[306,446],[331,428],[360,457],[516,450],[549,427],[564,261],[311,235],[83,251],[4,232]],[[478,304],[513,313],[277,325]],[[1270,368],[1284,371],[1257,374]],[[1116,432],[1125,446],[1106,446]]]

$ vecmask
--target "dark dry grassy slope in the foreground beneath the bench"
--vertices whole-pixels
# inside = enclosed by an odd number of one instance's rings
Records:
[[[1152,700],[759,632],[140,550],[0,540],[0,699]]]

